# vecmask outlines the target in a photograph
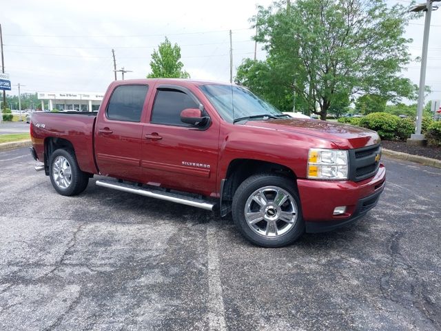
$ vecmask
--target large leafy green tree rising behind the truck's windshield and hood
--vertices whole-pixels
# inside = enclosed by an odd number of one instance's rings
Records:
[[[271,70],[285,76],[283,89],[325,119],[346,97],[416,98],[416,86],[400,74],[411,60],[411,40],[403,37],[409,18],[384,0],[279,0],[253,20]]]

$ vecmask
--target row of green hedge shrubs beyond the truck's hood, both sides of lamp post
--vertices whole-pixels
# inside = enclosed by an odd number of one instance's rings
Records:
[[[372,112],[365,117],[343,117],[338,121],[375,130],[384,140],[406,140],[415,132],[416,126],[413,119],[400,119],[386,112]],[[441,122],[423,117],[421,131],[426,134],[430,145],[441,146]]]

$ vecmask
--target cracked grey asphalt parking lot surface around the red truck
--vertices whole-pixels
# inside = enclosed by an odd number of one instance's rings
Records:
[[[385,159],[350,228],[258,248],[231,219],[0,152],[0,330],[441,330],[441,169]]]

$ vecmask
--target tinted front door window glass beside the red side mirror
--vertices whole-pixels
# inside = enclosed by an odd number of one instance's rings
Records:
[[[189,126],[181,122],[181,112],[185,108],[198,108],[198,105],[184,92],[158,90],[154,100],[151,122],[172,126]]]

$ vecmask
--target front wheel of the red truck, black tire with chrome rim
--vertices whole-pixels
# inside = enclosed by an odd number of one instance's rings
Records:
[[[262,192],[264,192],[263,194],[265,194],[265,199],[267,200],[266,205],[263,203],[264,206],[260,205],[260,203],[256,203],[256,200],[252,199],[252,197],[255,196],[256,191],[263,188],[265,190]],[[279,190],[276,190],[276,188]],[[271,192],[274,192],[274,194],[272,194],[272,196],[274,196],[273,201],[271,201]],[[278,205],[278,203],[276,203],[276,196],[278,192],[280,192],[281,197],[283,194],[286,195],[286,193],[288,193],[289,196],[287,201],[280,205],[280,209],[275,210],[274,208],[277,208],[276,205]],[[260,212],[263,215],[262,221],[259,221],[255,225],[250,225],[245,218],[245,208],[247,208],[249,212],[252,212],[250,206],[257,208],[256,214]],[[271,208],[273,208],[272,211],[269,210]],[[285,210],[289,211],[287,212]],[[271,213],[268,214],[268,212]],[[292,214],[290,223],[278,218],[278,215],[280,215],[282,212]],[[256,174],[245,179],[245,181],[240,184],[234,193],[232,214],[233,221],[240,233],[243,234],[243,237],[256,245],[263,247],[283,247],[289,245],[294,243],[294,241],[296,241],[303,234],[303,232],[305,232],[305,223],[302,218],[300,199],[298,199],[298,192],[296,190],[295,183],[292,179],[278,176],[276,174]],[[273,215],[274,221],[267,221],[267,219],[265,219],[265,217],[270,218]],[[258,218],[260,218],[260,216],[258,216]],[[276,231],[274,231],[275,233],[272,234],[274,237],[270,237],[271,234],[268,235],[269,232],[267,232],[267,224],[269,223],[278,224],[271,225],[271,227],[273,227],[271,229],[276,229]],[[279,225],[282,228],[281,230],[286,232],[280,231],[280,233],[278,233]],[[262,230],[260,230],[260,228],[262,228]],[[265,229],[266,233],[263,233],[265,232]]]

